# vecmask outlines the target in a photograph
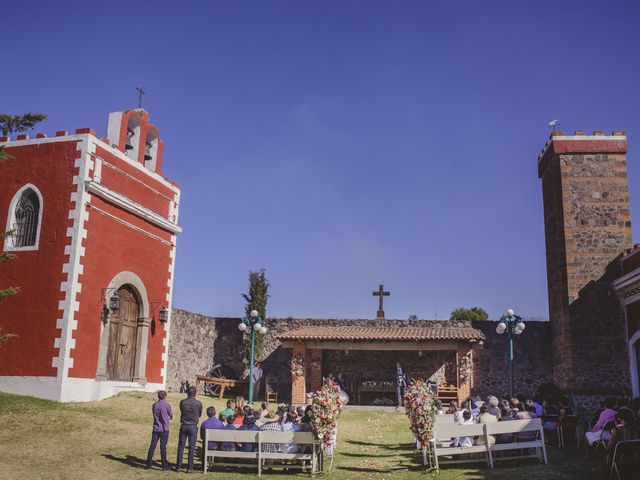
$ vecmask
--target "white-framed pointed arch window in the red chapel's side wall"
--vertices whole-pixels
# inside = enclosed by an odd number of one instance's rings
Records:
[[[33,185],[25,185],[11,201],[5,250],[37,250],[41,219],[42,195]]]

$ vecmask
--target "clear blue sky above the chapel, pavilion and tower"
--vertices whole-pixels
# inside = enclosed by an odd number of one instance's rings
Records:
[[[526,5],[526,6],[525,6]],[[40,131],[145,107],[183,187],[174,305],[240,315],[547,316],[549,129],[626,130],[640,218],[637,2],[12,2],[0,110]],[[637,238],[637,224],[634,235]]]

